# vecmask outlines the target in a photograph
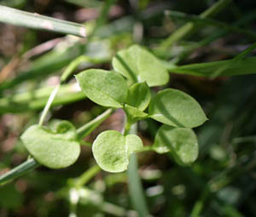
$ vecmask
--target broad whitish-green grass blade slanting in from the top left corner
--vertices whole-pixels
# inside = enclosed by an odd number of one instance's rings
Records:
[[[56,31],[79,37],[86,36],[83,25],[5,6],[0,6],[0,22],[38,30]]]

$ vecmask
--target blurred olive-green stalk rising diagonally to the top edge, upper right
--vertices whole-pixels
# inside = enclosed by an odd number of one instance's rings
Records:
[[[231,3],[231,0],[219,0],[217,3],[214,3],[211,8],[201,13],[200,17],[207,18],[214,16],[215,14],[218,14],[220,11],[222,11],[229,3]],[[196,27],[198,26],[196,26],[193,22],[188,22],[184,26],[179,27],[177,31],[173,32],[170,37],[167,37],[166,40],[160,44],[160,49],[171,47],[173,43],[193,33]]]

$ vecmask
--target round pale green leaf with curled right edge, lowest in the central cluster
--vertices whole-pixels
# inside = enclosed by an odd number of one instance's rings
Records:
[[[131,153],[142,148],[143,142],[137,135],[108,130],[97,136],[92,152],[102,169],[119,173],[127,169]]]

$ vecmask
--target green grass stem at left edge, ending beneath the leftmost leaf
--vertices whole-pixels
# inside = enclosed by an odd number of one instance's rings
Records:
[[[38,168],[39,166],[40,164],[37,163],[33,158],[28,159],[26,162],[21,163],[19,166],[0,176],[0,186],[7,184],[9,181],[26,174],[28,171]]]

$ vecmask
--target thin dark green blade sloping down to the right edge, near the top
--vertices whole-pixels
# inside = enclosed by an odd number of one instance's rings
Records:
[[[192,15],[192,14],[184,14],[182,12],[172,11],[172,10],[166,11],[165,14],[171,18],[177,18],[180,20],[189,20],[190,22],[194,22],[197,24],[205,25],[205,26],[217,26],[227,31],[234,31],[236,33],[245,34],[248,37],[252,37],[253,39],[256,38],[256,33],[254,31],[241,29],[237,26],[228,25],[224,22],[213,20],[211,18],[204,18],[201,16]]]

